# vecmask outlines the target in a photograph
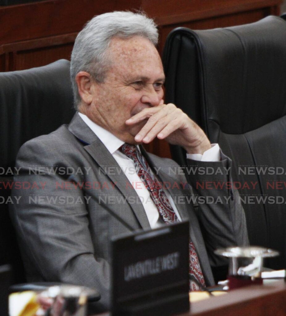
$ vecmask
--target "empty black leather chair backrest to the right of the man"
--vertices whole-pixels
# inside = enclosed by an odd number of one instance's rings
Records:
[[[165,101],[182,108],[233,160],[250,243],[279,250],[267,265],[285,268],[286,22],[268,16],[228,28],[177,28],[163,64]],[[185,164],[182,149],[171,152]]]

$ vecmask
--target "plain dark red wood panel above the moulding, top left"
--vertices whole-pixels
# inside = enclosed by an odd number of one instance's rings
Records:
[[[121,4],[122,3],[122,4]],[[94,15],[140,1],[53,0],[0,8],[0,44],[78,32]]]

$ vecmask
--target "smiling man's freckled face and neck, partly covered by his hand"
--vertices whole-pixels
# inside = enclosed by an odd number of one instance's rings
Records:
[[[124,142],[136,143],[134,136],[146,120],[134,126],[127,126],[125,121],[163,102],[161,58],[152,43],[141,36],[115,37],[108,57],[111,65],[103,83],[92,83],[94,95],[86,114]]]

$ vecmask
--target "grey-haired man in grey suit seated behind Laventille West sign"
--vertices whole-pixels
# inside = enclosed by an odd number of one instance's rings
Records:
[[[154,22],[143,14],[89,21],[71,55],[78,112],[69,126],[25,143],[17,157],[16,180],[42,183],[40,194],[22,190],[12,212],[28,279],[95,287],[99,309],[109,306],[109,240],[116,235],[188,219],[191,290],[214,284],[211,267],[224,264],[215,248],[248,243],[236,191],[205,192],[196,181],[209,175],[196,174],[188,179],[195,194],[220,203],[197,210],[190,199],[178,203],[191,191],[182,173],[168,171],[177,164],[138,146],[165,139],[186,149],[194,168],[220,168],[225,172],[215,178],[230,181],[231,161],[218,145],[174,104],[164,104],[157,41]]]

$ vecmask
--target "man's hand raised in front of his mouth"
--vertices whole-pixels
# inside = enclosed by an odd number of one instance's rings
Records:
[[[135,125],[142,120],[147,123],[135,136],[138,143],[150,143],[155,137],[168,143],[182,146],[188,154],[203,154],[211,148],[210,142],[202,129],[187,114],[174,104],[163,104],[146,108],[126,121]]]

